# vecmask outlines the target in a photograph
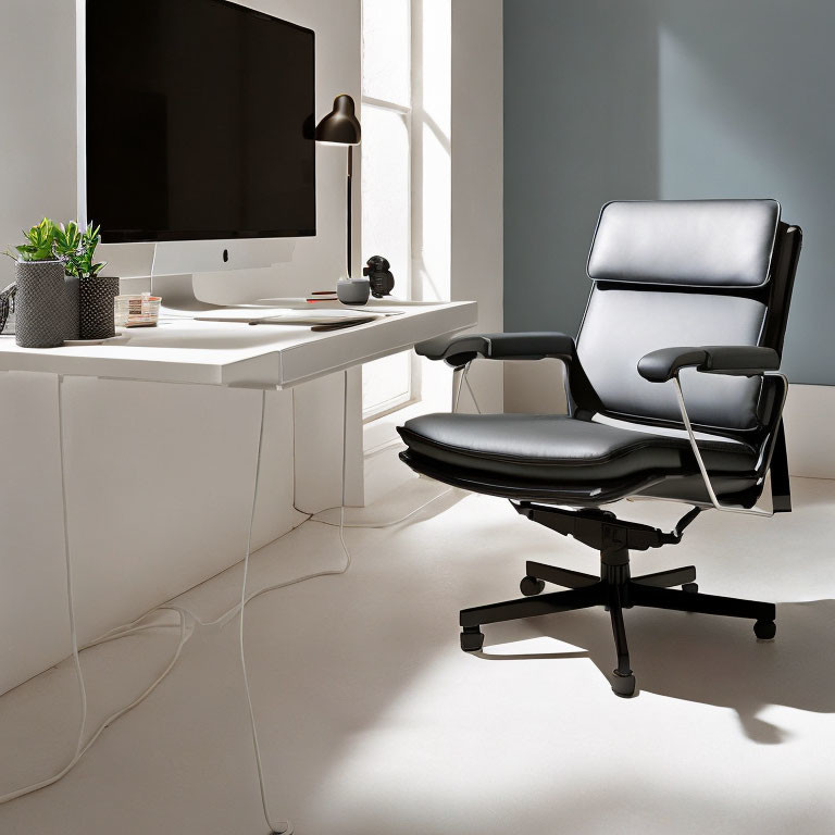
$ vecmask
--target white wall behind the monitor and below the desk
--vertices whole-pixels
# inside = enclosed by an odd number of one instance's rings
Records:
[[[338,92],[359,101],[360,0],[251,4],[315,30],[317,116]],[[2,22],[0,242],[13,244],[22,226],[43,214],[75,212],[74,2],[7,0]],[[334,284],[342,269],[345,154],[335,148],[316,153],[319,235],[298,240],[285,264],[201,276],[207,300],[230,303]],[[359,195],[356,200],[359,221]],[[0,286],[5,278],[11,262],[0,265]],[[338,498],[338,465],[315,484],[296,483],[294,456],[303,459],[313,444],[321,451],[322,438],[306,434],[310,421],[295,421],[294,412],[335,416],[327,439],[338,452],[341,386],[337,375],[295,397],[269,396],[256,546],[298,523],[296,494],[308,511]],[[352,389],[359,390],[358,379]],[[242,558],[260,401],[252,391],[115,381],[67,381],[65,391],[84,641]],[[49,375],[0,375],[0,693],[68,651],[55,397]],[[359,437],[359,424],[353,429]],[[147,523],[144,531],[137,519]]]

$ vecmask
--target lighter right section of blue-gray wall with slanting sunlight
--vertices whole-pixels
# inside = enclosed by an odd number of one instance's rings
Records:
[[[781,201],[784,219],[805,232],[784,369],[794,383],[835,384],[820,345],[835,311],[835,198],[832,176],[821,176],[832,170],[835,7],[664,0],[658,8],[660,196]]]

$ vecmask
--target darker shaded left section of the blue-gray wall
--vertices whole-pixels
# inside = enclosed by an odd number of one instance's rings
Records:
[[[506,331],[576,334],[600,207],[659,196],[655,5],[504,4]]]

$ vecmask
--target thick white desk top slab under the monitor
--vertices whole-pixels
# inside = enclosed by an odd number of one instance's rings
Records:
[[[270,307],[304,309],[298,299],[271,299]],[[260,313],[259,307],[241,310]],[[210,312],[163,311],[157,327],[124,328],[102,345],[20,348],[14,336],[0,336],[0,371],[285,388],[473,327],[477,315],[474,301],[372,302],[365,310],[398,315],[312,332],[304,325],[199,322],[192,316]]]

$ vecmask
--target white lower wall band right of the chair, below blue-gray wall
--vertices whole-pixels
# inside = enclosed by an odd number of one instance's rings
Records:
[[[835,386],[793,383],[783,415],[792,475],[835,478]]]

